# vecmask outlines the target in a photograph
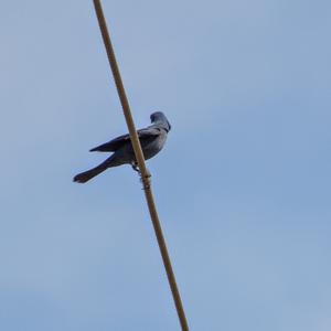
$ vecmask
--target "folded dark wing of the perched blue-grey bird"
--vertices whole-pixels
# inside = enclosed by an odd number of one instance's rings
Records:
[[[138,130],[137,134],[138,134],[140,143],[142,143],[149,139],[154,139],[157,136],[159,136],[160,129],[154,126],[150,126],[146,129]],[[130,135],[127,134],[127,135],[119,136],[106,143],[97,146],[97,147],[90,149],[89,151],[102,151],[102,152],[116,151],[120,147],[122,147],[124,145],[126,145],[130,141],[131,141]]]

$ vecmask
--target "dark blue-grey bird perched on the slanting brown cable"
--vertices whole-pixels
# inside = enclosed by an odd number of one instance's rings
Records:
[[[150,115],[150,126],[137,130],[146,160],[154,157],[163,148],[168,132],[171,130],[171,125],[162,111],[152,113]],[[140,172],[129,134],[111,139],[110,141],[97,146],[89,151],[114,153],[97,167],[76,174],[73,179],[74,182],[86,183],[108,168],[122,164],[130,164],[134,170]]]

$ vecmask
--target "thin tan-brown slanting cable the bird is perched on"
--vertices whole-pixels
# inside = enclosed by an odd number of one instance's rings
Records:
[[[189,331],[189,325],[188,325],[188,321],[185,318],[185,312],[183,309],[183,305],[181,301],[181,297],[180,297],[180,292],[175,282],[175,277],[172,270],[172,266],[171,266],[171,261],[170,261],[170,257],[168,254],[168,249],[167,249],[167,244],[162,234],[162,228],[161,228],[161,224],[160,224],[160,220],[158,216],[158,212],[157,212],[157,207],[154,204],[154,199],[152,195],[152,191],[151,191],[151,183],[150,183],[150,173],[146,167],[145,163],[145,158],[143,158],[143,153],[141,150],[141,146],[140,146],[140,141],[137,135],[137,130],[135,127],[135,122],[132,119],[132,115],[131,115],[131,110],[130,110],[130,106],[129,106],[129,102],[127,99],[126,96],[126,92],[124,88],[124,84],[120,77],[120,73],[119,73],[119,68],[117,65],[117,61],[115,57],[115,52],[113,49],[113,44],[110,41],[110,36],[108,33],[108,29],[107,29],[107,23],[105,20],[105,15],[103,12],[103,7],[99,0],[94,0],[94,7],[95,7],[95,11],[96,11],[96,15],[99,22],[99,26],[100,26],[100,31],[102,31],[102,35],[103,35],[103,40],[105,43],[105,47],[106,47],[106,52],[107,52],[107,56],[108,56],[108,61],[109,61],[109,65],[113,72],[113,76],[114,76],[114,81],[117,87],[117,92],[118,92],[118,96],[121,103],[121,107],[122,107],[122,111],[127,121],[127,126],[130,132],[130,138],[132,141],[132,146],[134,146],[134,150],[135,150],[135,154],[136,154],[136,159],[138,162],[138,167],[141,173],[141,179],[142,179],[142,184],[143,184],[143,190],[145,190],[145,196],[147,200],[147,204],[148,204],[148,209],[149,209],[149,213],[150,213],[150,217],[153,224],[153,228],[156,232],[156,236],[158,239],[158,244],[159,244],[159,248],[161,252],[161,256],[162,256],[162,260],[163,260],[163,265],[167,271],[167,277],[168,277],[168,281],[170,285],[170,289],[172,292],[172,297],[173,297],[173,301],[175,305],[175,309],[178,312],[178,317],[180,320],[180,324],[183,331]]]

